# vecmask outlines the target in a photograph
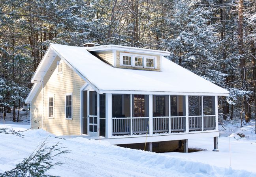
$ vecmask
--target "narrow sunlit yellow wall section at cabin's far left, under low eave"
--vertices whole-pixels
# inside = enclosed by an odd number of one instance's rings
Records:
[[[43,89],[42,84],[38,92],[31,101],[31,128],[42,128],[42,115],[43,115]]]

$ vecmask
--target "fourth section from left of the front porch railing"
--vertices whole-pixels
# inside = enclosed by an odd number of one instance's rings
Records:
[[[186,131],[186,116],[171,117],[171,132]]]

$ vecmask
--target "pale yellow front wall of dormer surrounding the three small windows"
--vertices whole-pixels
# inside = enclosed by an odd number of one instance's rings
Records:
[[[120,66],[120,52],[121,53],[133,53],[137,55],[149,55],[149,56],[154,56],[156,57],[156,69],[151,69],[151,68],[136,68],[132,66]],[[135,53],[135,52],[123,52],[123,51],[117,51],[116,52],[116,65],[117,68],[126,68],[126,69],[135,69],[135,70],[149,70],[149,71],[160,71],[160,55],[150,55],[150,54],[143,54],[143,53]]]

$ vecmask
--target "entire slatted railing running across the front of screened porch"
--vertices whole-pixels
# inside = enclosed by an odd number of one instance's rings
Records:
[[[202,121],[203,118],[203,121]],[[188,116],[189,131],[213,130],[216,116]],[[153,117],[153,134],[186,131],[186,116]],[[131,128],[132,126],[132,128]],[[143,135],[150,133],[149,117],[112,118],[112,135]]]

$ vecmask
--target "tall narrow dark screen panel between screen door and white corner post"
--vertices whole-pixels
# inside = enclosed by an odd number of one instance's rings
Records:
[[[100,136],[106,136],[106,96],[100,94]]]

